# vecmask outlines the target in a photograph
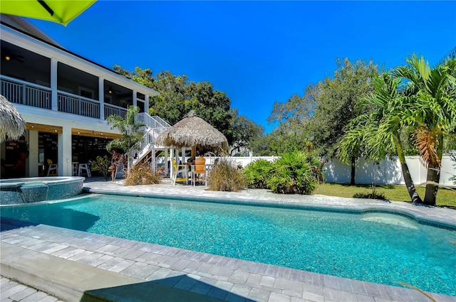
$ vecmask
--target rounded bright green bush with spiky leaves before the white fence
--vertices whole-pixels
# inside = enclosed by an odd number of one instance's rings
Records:
[[[311,169],[311,155],[297,151],[284,153],[274,161],[267,183],[274,193],[311,194],[316,179]]]

